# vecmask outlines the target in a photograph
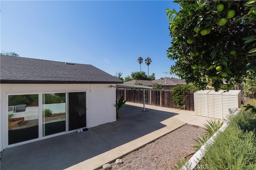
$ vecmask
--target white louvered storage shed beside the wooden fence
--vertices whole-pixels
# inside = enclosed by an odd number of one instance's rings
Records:
[[[201,90],[194,93],[195,114],[226,119],[229,109],[237,109],[241,104],[241,90]]]

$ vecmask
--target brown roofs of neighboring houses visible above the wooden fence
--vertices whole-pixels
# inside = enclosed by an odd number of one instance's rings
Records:
[[[125,84],[138,84],[138,83],[142,83],[146,86],[152,86],[153,83],[158,83],[158,84],[162,84],[163,86],[177,86],[177,85],[184,85],[186,84],[185,80],[181,80],[178,78],[172,78],[172,77],[165,77],[162,79],[157,79],[157,80],[131,80],[128,82],[124,82]]]

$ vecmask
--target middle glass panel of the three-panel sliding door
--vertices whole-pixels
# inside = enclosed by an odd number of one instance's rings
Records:
[[[66,93],[43,94],[43,136],[66,131]]]

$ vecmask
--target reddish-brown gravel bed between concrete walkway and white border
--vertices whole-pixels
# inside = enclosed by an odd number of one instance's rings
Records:
[[[175,131],[127,154],[123,164],[111,163],[111,170],[166,170],[174,168],[175,160],[194,153],[194,140],[204,129],[184,125]],[[103,170],[103,169],[99,169]]]

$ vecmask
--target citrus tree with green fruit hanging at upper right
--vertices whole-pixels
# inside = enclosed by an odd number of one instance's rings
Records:
[[[204,89],[223,80],[233,86],[256,76],[256,1],[176,0],[180,11],[166,9],[175,60],[170,72]]]

